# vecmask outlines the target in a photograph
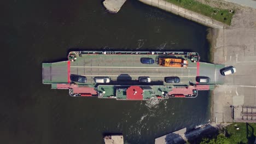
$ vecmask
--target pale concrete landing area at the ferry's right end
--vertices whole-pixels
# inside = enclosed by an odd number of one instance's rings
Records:
[[[233,65],[237,72],[224,76],[225,85],[214,89],[213,121],[255,122],[256,117],[242,119],[242,106],[256,106],[256,10],[236,11],[231,26],[214,29],[214,63]],[[255,110],[249,109],[255,112]],[[253,120],[253,121],[252,121]]]

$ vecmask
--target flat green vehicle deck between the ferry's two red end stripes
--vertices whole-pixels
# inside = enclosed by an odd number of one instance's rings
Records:
[[[95,85],[94,77],[101,76],[108,76],[113,82],[126,79],[136,81],[139,76],[149,76],[154,85],[158,85],[157,81],[163,84],[166,76],[179,76],[181,84],[195,79],[196,63],[189,61],[188,68],[163,67],[157,63],[142,64],[141,57],[156,61],[158,55],[82,55],[71,62],[71,74],[85,75],[88,85]]]

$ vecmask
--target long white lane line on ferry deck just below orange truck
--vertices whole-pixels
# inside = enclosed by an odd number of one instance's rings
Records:
[[[138,69],[196,69],[194,68],[183,68],[183,67],[83,67],[83,66],[71,66],[71,68],[138,68]]]

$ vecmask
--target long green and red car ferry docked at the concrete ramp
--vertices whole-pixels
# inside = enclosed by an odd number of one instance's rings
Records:
[[[143,64],[142,58],[154,59]],[[159,59],[182,59],[181,66],[161,65]],[[43,63],[43,83],[52,88],[69,89],[71,96],[97,96],[119,100],[149,100],[152,98],[196,97],[197,91],[213,89],[223,83],[219,70],[222,64],[199,62],[196,52],[132,52],[75,51],[68,61]],[[166,62],[167,63],[167,62]],[[86,76],[86,82],[71,81],[71,75]],[[166,83],[166,77],[179,77],[178,83]],[[207,76],[208,83],[196,82],[196,76]],[[108,77],[108,83],[96,83],[97,77]],[[139,82],[150,77],[151,82]]]

